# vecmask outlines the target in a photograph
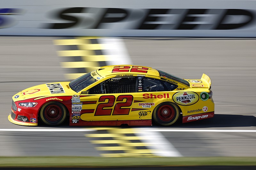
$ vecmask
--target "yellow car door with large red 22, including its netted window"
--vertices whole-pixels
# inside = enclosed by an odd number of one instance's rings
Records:
[[[112,77],[103,81],[81,97],[83,108],[81,119],[84,121],[137,120],[138,107],[137,77]],[[141,98],[141,97],[140,97]],[[135,108],[133,108],[135,107]],[[136,110],[137,111],[137,110]]]

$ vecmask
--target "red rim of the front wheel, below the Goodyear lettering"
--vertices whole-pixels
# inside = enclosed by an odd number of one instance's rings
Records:
[[[47,106],[44,110],[44,116],[48,121],[55,122],[62,116],[61,108],[57,105]]]

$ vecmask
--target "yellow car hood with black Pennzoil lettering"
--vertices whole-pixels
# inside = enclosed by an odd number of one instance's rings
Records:
[[[18,92],[12,97],[12,99],[14,101],[18,101],[36,97],[65,96],[76,94],[76,92],[73,91],[68,84],[69,82],[55,82],[36,85]]]

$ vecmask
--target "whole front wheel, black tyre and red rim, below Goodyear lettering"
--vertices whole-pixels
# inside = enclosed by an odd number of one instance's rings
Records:
[[[46,125],[57,126],[65,121],[67,111],[63,104],[59,102],[49,102],[44,104],[40,110],[40,118]]]

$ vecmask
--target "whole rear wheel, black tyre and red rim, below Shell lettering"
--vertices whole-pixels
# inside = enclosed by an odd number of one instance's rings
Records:
[[[162,126],[169,126],[175,123],[180,116],[179,108],[171,102],[159,104],[153,112],[154,121]]]

